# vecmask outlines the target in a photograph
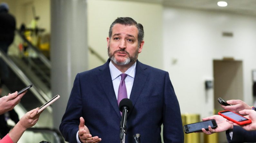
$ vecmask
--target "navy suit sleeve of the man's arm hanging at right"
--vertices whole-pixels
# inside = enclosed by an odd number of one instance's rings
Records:
[[[180,106],[169,74],[166,72],[163,107],[163,138],[165,143],[184,142]]]

